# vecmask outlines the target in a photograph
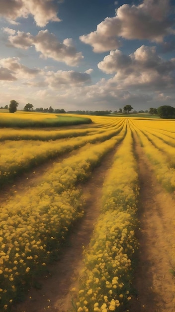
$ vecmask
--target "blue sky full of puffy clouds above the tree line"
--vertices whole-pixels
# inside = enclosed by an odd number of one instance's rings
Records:
[[[0,0],[0,106],[175,107],[174,0]]]

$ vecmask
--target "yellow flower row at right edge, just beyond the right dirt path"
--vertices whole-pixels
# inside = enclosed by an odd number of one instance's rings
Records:
[[[155,146],[156,142],[158,142],[158,138],[155,137],[153,144],[143,131],[132,125],[131,128],[139,138],[146,156],[152,163],[157,180],[162,183],[167,191],[173,192],[175,190],[175,168],[171,167],[172,161],[167,155]],[[163,144],[161,146],[163,146]]]

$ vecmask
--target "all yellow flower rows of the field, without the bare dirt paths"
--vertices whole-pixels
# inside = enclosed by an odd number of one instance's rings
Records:
[[[82,128],[0,131],[0,185],[11,187],[0,201],[0,311],[37,286],[48,263],[86,207],[86,183],[108,153],[115,151],[102,189],[100,217],[87,250],[73,311],[127,311],[132,297],[139,171],[134,152],[137,136],[154,173],[166,190],[175,191],[173,121],[96,117]],[[62,157],[60,157],[62,156]],[[16,176],[35,172],[53,159],[34,185],[15,190]],[[129,310],[128,310],[129,311]]]

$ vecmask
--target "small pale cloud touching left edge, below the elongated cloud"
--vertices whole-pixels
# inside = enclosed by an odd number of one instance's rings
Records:
[[[0,59],[0,65],[2,66],[1,68],[3,68],[1,71],[1,80],[16,80],[17,78],[29,79],[40,73],[39,69],[30,69],[20,64],[19,61],[20,59],[18,57]],[[5,79],[5,77],[9,79]]]

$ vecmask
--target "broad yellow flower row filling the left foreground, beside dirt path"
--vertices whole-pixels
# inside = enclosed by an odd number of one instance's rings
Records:
[[[40,183],[15,193],[0,208],[0,309],[20,299],[36,282],[46,264],[55,258],[69,229],[83,215],[81,191],[102,157],[123,140],[121,134],[102,143],[87,144],[42,175]],[[88,153],[87,153],[88,149]]]

